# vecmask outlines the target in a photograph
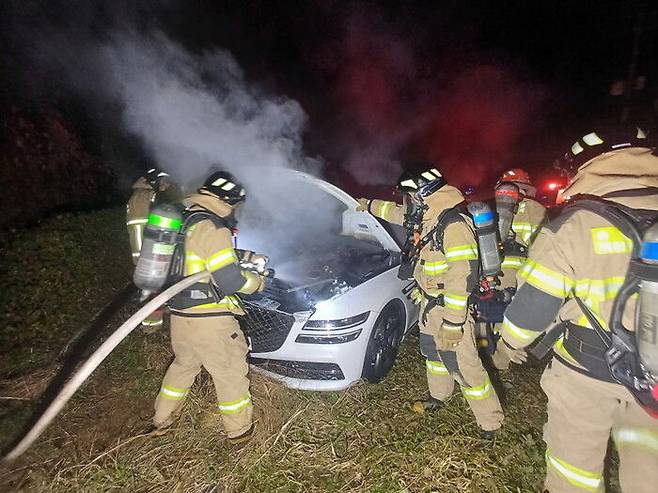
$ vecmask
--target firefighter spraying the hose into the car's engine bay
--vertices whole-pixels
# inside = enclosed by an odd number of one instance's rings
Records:
[[[188,229],[184,274],[206,269],[212,277],[191,286],[170,302],[175,359],[155,401],[156,430],[164,431],[172,424],[203,367],[215,384],[217,414],[229,440],[239,443],[253,432],[248,347],[236,318],[244,315],[244,311],[236,294],[262,290],[264,278],[243,270],[233,248],[235,210],[244,200],[244,188],[222,171],[210,175],[197,193],[183,200],[187,212],[213,214]]]

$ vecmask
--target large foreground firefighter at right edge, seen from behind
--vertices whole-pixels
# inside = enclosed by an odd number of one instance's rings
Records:
[[[573,144],[564,162],[575,172],[565,196],[588,194],[634,210],[658,211],[658,157],[637,128],[590,132]],[[519,289],[501,331],[503,347],[524,348],[556,317],[564,321],[544,338],[555,341],[553,359],[541,379],[548,397],[548,491],[604,491],[603,464],[611,434],[619,453],[622,490],[656,491],[658,420],[612,378],[604,359],[607,346],[589,321],[598,320],[609,330],[633,243],[601,215],[578,208],[577,199],[539,232],[519,271]],[[631,299],[623,313],[629,328],[634,325],[634,304]]]

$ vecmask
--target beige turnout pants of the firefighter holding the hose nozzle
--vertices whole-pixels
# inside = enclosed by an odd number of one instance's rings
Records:
[[[235,317],[171,316],[171,346],[175,358],[155,400],[153,423],[165,427],[180,413],[201,367],[210,373],[217,392],[217,411],[229,437],[252,424],[247,373],[247,342]]]

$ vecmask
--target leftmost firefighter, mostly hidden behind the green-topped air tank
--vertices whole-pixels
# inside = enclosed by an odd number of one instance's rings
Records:
[[[158,168],[149,169],[133,184],[133,193],[126,206],[126,226],[128,227],[133,264],[137,265],[137,260],[139,260],[144,227],[148,222],[151,206],[158,202],[164,192],[169,195],[169,192],[174,191],[175,188],[169,174]],[[162,310],[158,309],[149,315],[142,322],[144,331],[155,332],[162,327],[162,314]]]

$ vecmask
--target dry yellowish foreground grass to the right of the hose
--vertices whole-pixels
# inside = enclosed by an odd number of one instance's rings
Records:
[[[39,445],[11,470],[1,470],[0,487],[135,493],[535,491],[543,475],[537,371],[513,374],[519,389],[509,396],[510,418],[496,443],[487,445],[476,438],[460,395],[434,413],[410,411],[425,386],[416,342],[411,337],[405,343],[400,364],[385,382],[342,393],[292,391],[254,374],[256,434],[238,448],[221,433],[205,374],[171,432],[157,438],[140,433],[170,354],[161,336],[135,334]]]

